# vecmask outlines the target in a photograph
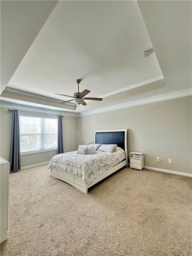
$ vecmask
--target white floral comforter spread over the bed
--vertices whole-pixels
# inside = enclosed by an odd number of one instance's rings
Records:
[[[77,151],[55,155],[48,166],[78,175],[89,186],[101,173],[125,159],[125,151],[119,147],[115,152],[96,151],[96,154],[79,155]]]

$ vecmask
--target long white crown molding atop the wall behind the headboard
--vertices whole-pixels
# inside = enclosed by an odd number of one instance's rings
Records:
[[[183,89],[183,90],[179,90],[179,91],[175,91],[175,92],[169,92],[169,93],[160,94],[157,96],[143,98],[143,99],[139,99],[139,100],[124,102],[124,103],[120,103],[120,104],[113,105],[113,106],[108,106],[108,107],[103,107],[103,108],[99,108],[99,109],[85,111],[85,112],[80,113],[80,116],[94,115],[94,114],[113,111],[113,110],[117,110],[117,109],[130,108],[130,107],[134,107],[134,106],[145,105],[145,104],[150,104],[153,102],[171,100],[171,99],[176,99],[176,98],[181,98],[181,97],[187,97],[187,96],[191,96],[191,95],[192,95],[192,88],[188,88],[188,89]]]

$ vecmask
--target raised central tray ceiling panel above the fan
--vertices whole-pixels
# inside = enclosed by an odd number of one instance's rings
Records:
[[[17,1],[16,1],[17,2]],[[162,78],[137,1],[60,1],[8,83],[9,87],[62,98],[75,79],[89,97],[127,90]]]

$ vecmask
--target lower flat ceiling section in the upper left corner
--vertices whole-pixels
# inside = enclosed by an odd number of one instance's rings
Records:
[[[1,90],[58,1],[1,1]]]

